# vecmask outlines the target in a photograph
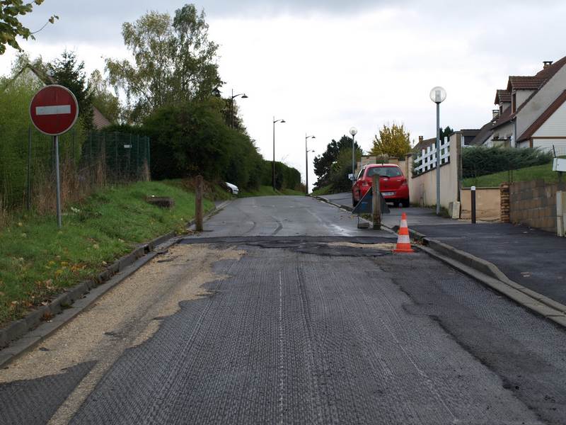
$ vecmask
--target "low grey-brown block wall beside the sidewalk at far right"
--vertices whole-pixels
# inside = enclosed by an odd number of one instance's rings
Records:
[[[543,180],[520,181],[509,185],[509,218],[512,223],[556,232],[556,191],[558,184]],[[565,190],[562,183],[561,189]]]

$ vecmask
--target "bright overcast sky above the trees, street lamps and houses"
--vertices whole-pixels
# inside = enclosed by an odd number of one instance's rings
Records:
[[[426,4],[425,4],[426,3]],[[21,45],[32,56],[76,50],[88,72],[104,57],[128,57],[121,25],[148,10],[174,13],[185,1],[45,0],[25,25],[59,21]],[[238,100],[260,152],[304,176],[305,133],[315,154],[355,126],[364,150],[384,123],[404,123],[417,140],[434,137],[433,86],[448,92],[441,125],[479,128],[491,116],[495,90],[507,76],[529,75],[544,60],[566,55],[563,0],[203,0],[210,38],[220,45],[224,94]],[[562,40],[562,41],[560,41]],[[7,74],[15,52],[0,56]],[[309,157],[309,183],[314,183]],[[304,177],[303,177],[304,178]]]

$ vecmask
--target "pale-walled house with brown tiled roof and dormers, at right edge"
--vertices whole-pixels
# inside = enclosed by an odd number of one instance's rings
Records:
[[[472,145],[539,147],[566,154],[566,57],[533,76],[509,76],[495,92],[492,120]]]

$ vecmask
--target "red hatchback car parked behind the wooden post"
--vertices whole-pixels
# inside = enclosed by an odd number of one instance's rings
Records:
[[[379,174],[379,191],[386,202],[393,202],[395,205],[402,203],[407,208],[410,205],[409,186],[407,179],[403,176],[403,171],[396,164],[368,164],[364,166],[358,174],[358,179],[352,186],[352,205],[354,207],[359,200],[371,188],[372,177]]]

